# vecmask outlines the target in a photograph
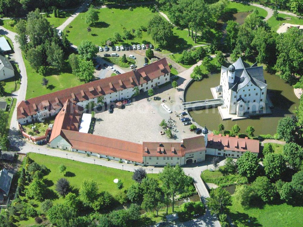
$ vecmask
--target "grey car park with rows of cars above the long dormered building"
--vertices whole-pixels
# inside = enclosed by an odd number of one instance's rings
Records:
[[[119,57],[121,57],[123,54],[125,54],[126,57],[128,57],[129,55],[134,55],[135,58],[136,58],[135,59],[136,66],[138,68],[143,67],[143,65],[145,63],[144,58],[146,57],[145,56],[146,49],[145,50],[141,49],[141,50],[128,50],[128,51],[126,51],[126,50],[124,50],[124,51],[121,51],[121,50],[120,51],[112,51],[112,49],[110,48],[109,51],[104,51],[104,47],[102,47],[102,48],[103,48],[103,51],[102,52],[99,51],[97,53],[97,56],[98,56],[97,61],[98,61],[98,64],[101,64],[102,68],[100,70],[95,70],[95,73],[94,73],[95,77],[98,77],[100,79],[105,78],[105,77],[110,77],[113,73],[111,70],[108,70],[106,67],[104,67],[104,63],[106,63],[109,66],[114,67],[116,70],[118,70],[121,73],[129,72],[129,71],[132,70],[129,67],[128,68],[122,68],[122,67],[119,67],[118,65],[114,65],[114,64],[112,64],[108,61],[105,61],[103,59],[104,54],[117,53],[119,55]],[[153,51],[156,52],[155,50],[153,50]]]

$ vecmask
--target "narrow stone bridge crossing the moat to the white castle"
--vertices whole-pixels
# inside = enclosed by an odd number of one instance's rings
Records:
[[[223,98],[215,98],[215,99],[206,99],[200,101],[193,102],[183,102],[183,108],[191,111],[191,110],[200,110],[200,109],[209,109],[218,107],[224,104]]]

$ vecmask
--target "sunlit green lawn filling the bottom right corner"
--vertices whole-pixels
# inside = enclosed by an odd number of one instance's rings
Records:
[[[303,207],[291,206],[286,203],[279,205],[264,205],[262,209],[243,207],[233,199],[229,206],[229,216],[235,226],[302,226]],[[250,222],[248,222],[250,220]]]

